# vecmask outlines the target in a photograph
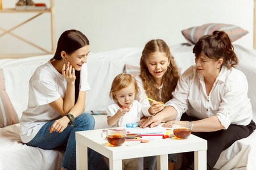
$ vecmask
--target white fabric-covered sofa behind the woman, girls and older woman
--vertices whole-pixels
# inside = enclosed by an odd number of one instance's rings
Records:
[[[235,47],[241,59],[238,69],[242,70],[249,82],[249,97],[256,118],[256,54],[253,50]],[[244,54],[244,51],[247,53]],[[86,93],[85,112],[94,113],[95,129],[108,128],[106,115],[101,114],[113,101],[109,99],[109,90],[114,77],[123,72],[125,65],[139,66],[142,48],[124,48],[111,52],[90,53],[88,58],[88,81],[91,90]],[[192,47],[189,45],[176,45],[171,48],[177,65],[181,72],[194,64]],[[240,56],[239,56],[240,55]],[[244,56],[246,55],[246,56]],[[23,59],[0,59],[0,73],[6,89],[1,86],[9,96],[11,104],[20,118],[27,107],[28,80],[39,65],[46,63],[52,55],[37,56]],[[128,73],[134,70],[127,69]],[[129,72],[130,71],[130,72]],[[254,75],[254,77],[253,77]],[[1,85],[1,84],[0,84]],[[3,99],[1,99],[3,100]],[[3,108],[0,105],[1,108]],[[98,115],[97,115],[98,114]],[[252,169],[256,167],[255,132],[246,139],[235,142],[222,152],[215,168],[217,169]],[[59,150],[42,150],[36,147],[23,145],[19,138],[19,124],[0,128],[0,169],[59,169],[64,152]],[[240,160],[240,161],[237,161]],[[247,166],[247,168],[246,168]]]

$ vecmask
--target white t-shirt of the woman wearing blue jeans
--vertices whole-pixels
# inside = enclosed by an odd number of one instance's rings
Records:
[[[80,91],[90,90],[87,76],[87,65],[84,63],[80,71]],[[67,89],[66,79],[50,61],[35,70],[29,84],[28,107],[20,118],[20,138],[23,143],[30,142],[47,122],[61,118],[48,104],[60,96],[64,99]]]

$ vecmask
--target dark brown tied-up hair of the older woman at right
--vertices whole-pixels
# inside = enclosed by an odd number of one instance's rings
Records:
[[[237,55],[234,53],[234,47],[229,39],[228,34],[224,31],[214,31],[212,35],[205,35],[196,42],[193,48],[196,57],[204,54],[215,61],[222,58],[222,65],[228,69],[238,64]]]

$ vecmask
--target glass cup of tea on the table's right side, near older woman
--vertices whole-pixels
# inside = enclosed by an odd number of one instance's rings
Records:
[[[174,131],[175,137],[187,139],[192,132],[192,123],[189,121],[172,122],[172,131]]]

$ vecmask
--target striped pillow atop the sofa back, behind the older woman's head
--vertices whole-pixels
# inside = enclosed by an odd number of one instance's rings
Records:
[[[212,34],[213,31],[224,31],[229,35],[230,40],[236,41],[242,36],[246,35],[248,31],[238,27],[237,25],[230,24],[204,24],[200,27],[191,27],[181,31],[189,44],[195,45],[201,36]]]

